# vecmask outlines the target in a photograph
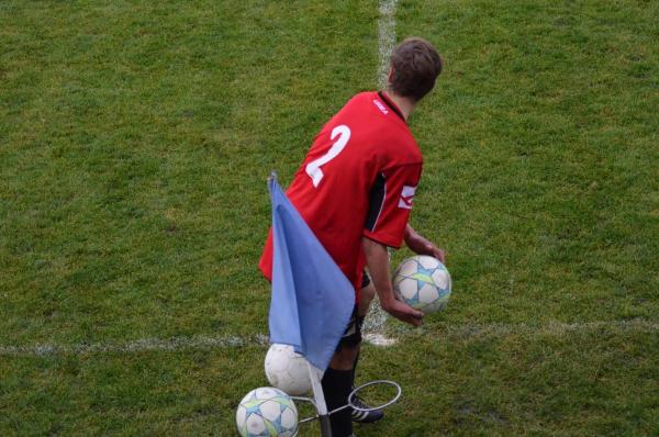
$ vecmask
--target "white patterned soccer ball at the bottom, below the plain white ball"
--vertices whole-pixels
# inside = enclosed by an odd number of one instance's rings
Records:
[[[298,408],[281,390],[261,386],[241,401],[236,426],[243,437],[293,437],[298,433]]]

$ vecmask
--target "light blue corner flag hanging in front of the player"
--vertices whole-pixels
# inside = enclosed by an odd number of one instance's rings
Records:
[[[350,320],[353,284],[272,173],[272,300],[270,341],[291,345],[309,362],[325,371]]]

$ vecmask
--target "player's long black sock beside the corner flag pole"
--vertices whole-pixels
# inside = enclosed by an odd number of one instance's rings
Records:
[[[335,370],[332,368],[325,370],[321,383],[328,412],[348,403],[353,374],[351,370]],[[332,424],[332,437],[349,437],[353,435],[350,408],[331,415],[330,423]]]

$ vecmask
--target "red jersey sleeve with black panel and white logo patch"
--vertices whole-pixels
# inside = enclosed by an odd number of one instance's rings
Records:
[[[381,171],[369,195],[364,236],[389,247],[401,247],[421,178],[421,164]]]

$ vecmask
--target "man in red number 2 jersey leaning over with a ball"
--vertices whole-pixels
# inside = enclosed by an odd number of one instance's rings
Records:
[[[392,316],[412,325],[422,323],[423,313],[394,298],[388,247],[399,248],[405,242],[417,254],[444,261],[444,253],[407,223],[423,159],[406,120],[440,72],[442,58],[431,43],[403,41],[391,55],[387,91],[350,99],[315,137],[287,190],[356,290],[355,312],[322,381],[330,411],[345,405],[351,391],[361,322],[375,292]],[[259,267],[271,279],[271,235]],[[333,436],[351,436],[351,419],[381,417],[378,411],[344,410],[331,416]]]

